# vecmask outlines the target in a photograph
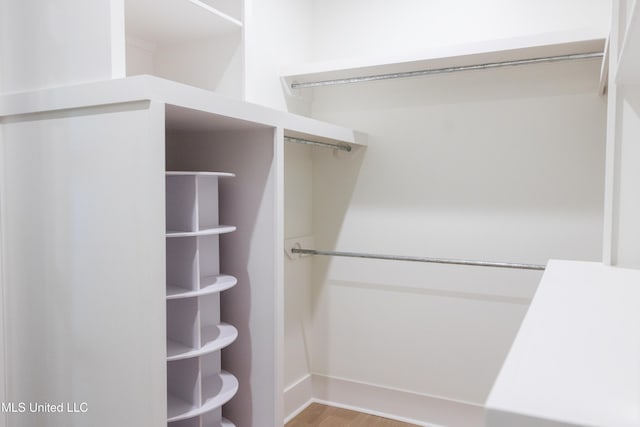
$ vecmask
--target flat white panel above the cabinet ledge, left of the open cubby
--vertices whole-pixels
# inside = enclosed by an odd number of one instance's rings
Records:
[[[122,62],[112,57],[117,1],[2,1],[0,93],[112,78]]]

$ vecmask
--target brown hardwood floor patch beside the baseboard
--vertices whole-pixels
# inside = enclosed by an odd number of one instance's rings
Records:
[[[388,418],[312,403],[285,427],[416,427]]]

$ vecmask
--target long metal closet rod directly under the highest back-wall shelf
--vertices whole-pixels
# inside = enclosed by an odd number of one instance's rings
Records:
[[[538,64],[543,62],[572,61],[576,59],[602,58],[603,52],[573,53],[569,55],[545,56],[541,58],[517,59],[513,61],[488,62],[476,65],[460,65],[456,67],[432,68],[428,70],[405,71],[400,73],[374,74],[370,76],[347,77],[334,80],[291,83],[291,89],[303,89],[318,86],[332,86],[350,83],[371,82],[376,80],[400,79],[406,77],[428,76],[430,74],[453,73],[457,71],[486,70],[492,68],[512,67],[516,65]]]

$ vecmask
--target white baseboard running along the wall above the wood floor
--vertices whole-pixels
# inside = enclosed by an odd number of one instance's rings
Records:
[[[347,379],[308,375],[285,390],[286,421],[312,402],[425,427],[481,427],[484,407]]]

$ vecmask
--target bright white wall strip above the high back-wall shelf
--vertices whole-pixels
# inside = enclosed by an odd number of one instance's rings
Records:
[[[610,0],[322,0],[313,2],[314,61],[595,28]]]

